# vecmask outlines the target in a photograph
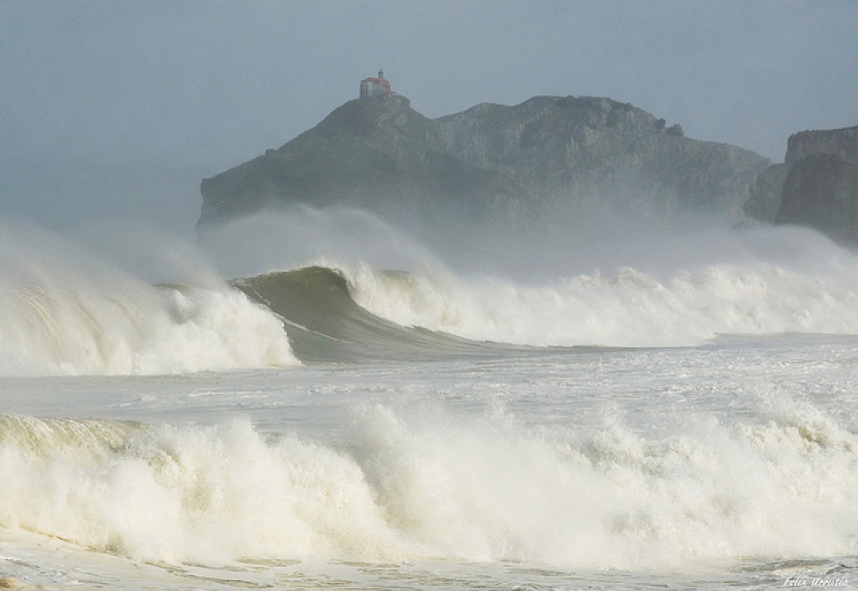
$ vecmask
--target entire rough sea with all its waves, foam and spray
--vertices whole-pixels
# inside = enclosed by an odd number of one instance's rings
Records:
[[[858,587],[854,250],[607,222],[4,220],[0,587]]]

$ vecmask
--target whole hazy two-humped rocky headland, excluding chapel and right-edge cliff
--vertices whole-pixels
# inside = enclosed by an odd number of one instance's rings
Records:
[[[365,97],[204,180],[200,224],[290,203],[483,218],[594,199],[736,212],[767,165],[608,98],[534,97],[430,120],[406,97]]]

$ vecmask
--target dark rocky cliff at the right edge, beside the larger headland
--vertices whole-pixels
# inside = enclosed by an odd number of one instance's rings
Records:
[[[858,127],[795,133],[786,160],[760,174],[745,213],[858,244]]]

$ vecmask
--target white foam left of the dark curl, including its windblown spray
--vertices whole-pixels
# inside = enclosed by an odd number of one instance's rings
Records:
[[[0,226],[0,375],[297,363],[281,320],[226,283],[156,287],[48,232],[27,230]]]

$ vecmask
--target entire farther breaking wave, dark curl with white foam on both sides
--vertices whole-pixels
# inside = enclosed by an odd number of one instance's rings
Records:
[[[724,249],[736,236],[720,232],[712,242]],[[754,240],[768,251],[712,253],[698,248],[702,235],[686,245],[699,251],[694,260],[660,271],[625,266],[529,282],[457,273],[437,259],[390,270],[316,258],[191,286],[149,283],[70,254],[62,242],[47,248],[45,236],[13,236],[0,241],[0,375],[185,373],[694,346],[731,334],[858,334],[853,253],[788,230]],[[685,253],[672,243],[663,250]]]

